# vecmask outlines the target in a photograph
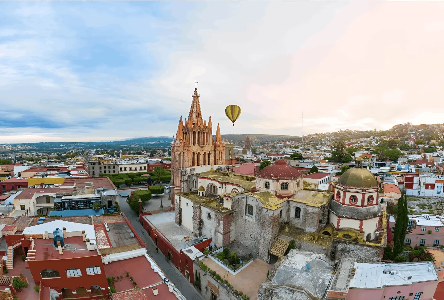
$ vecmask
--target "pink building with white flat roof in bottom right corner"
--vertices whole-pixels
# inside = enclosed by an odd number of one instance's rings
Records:
[[[439,277],[432,261],[355,263],[347,300],[433,300]]]

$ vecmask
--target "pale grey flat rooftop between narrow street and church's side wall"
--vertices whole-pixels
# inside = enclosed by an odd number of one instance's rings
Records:
[[[182,239],[186,236],[194,238],[193,232],[185,226],[179,226],[175,222],[174,212],[162,212],[154,215],[143,216],[147,221],[154,225],[163,236],[176,248],[181,250]]]

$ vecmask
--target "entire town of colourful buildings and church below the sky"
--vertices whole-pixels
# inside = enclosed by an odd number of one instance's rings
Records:
[[[166,148],[2,152],[4,299],[444,299],[443,124],[240,142],[199,98]]]

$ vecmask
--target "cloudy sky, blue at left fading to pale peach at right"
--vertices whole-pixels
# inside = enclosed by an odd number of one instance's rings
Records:
[[[0,144],[444,123],[444,2],[0,1]],[[242,108],[235,126],[227,105]],[[213,132],[215,133],[215,132]]]

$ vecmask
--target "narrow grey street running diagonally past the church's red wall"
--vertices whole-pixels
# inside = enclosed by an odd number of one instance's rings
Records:
[[[139,188],[135,188],[137,190]],[[119,192],[119,191],[118,191]],[[123,191],[122,191],[123,192]],[[125,192],[130,193],[131,190],[125,190]],[[168,198],[167,198],[168,199]],[[128,206],[125,198],[119,196],[120,210],[125,213],[128,220],[134,226],[137,234],[142,238],[142,240],[147,244],[148,254],[154,258],[159,267],[163,270],[166,276],[176,285],[178,290],[187,300],[203,300],[202,296],[194,289],[193,285],[190,284],[188,280],[173,266],[165,260],[165,256],[159,251],[156,253],[156,246],[150,238],[147,238],[147,234],[139,222],[139,217],[137,214]],[[165,204],[164,204],[165,205]]]

